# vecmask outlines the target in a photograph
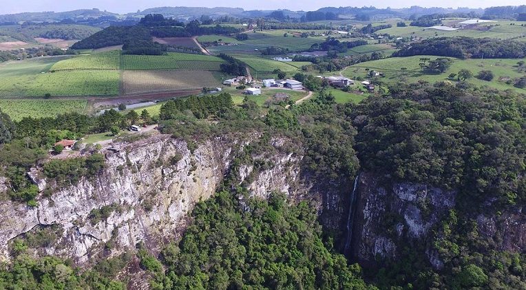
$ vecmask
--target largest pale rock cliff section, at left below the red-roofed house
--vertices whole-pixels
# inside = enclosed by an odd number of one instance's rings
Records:
[[[10,240],[45,225],[63,227],[63,236],[45,253],[78,263],[110,240],[116,254],[137,242],[156,249],[165,237],[180,234],[195,203],[215,192],[234,148],[235,142],[217,138],[191,153],[184,141],[156,136],[108,153],[101,174],[39,198],[37,207],[3,202],[1,256],[8,257]],[[102,207],[111,214],[96,218]]]

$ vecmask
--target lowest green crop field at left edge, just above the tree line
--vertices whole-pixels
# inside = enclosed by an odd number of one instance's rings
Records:
[[[0,99],[0,109],[14,121],[23,117],[43,118],[58,114],[83,113],[85,100],[4,100]]]

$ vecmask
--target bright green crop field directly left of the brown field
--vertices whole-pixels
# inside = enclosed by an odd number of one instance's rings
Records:
[[[116,70],[59,71],[2,79],[0,96],[110,96],[118,87]]]

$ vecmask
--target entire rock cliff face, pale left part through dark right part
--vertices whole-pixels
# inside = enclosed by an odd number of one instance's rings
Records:
[[[56,238],[34,252],[71,258],[78,265],[102,251],[118,255],[138,242],[155,253],[182,234],[193,206],[212,196],[227,174],[235,173],[253,196],[266,198],[281,191],[291,202],[315,205],[322,225],[341,237],[337,247],[344,249],[348,242],[346,254],[366,267],[395,259],[401,247],[412,245],[423,247],[436,269],[443,266],[430,235],[454,209],[456,191],[393,183],[388,176],[362,172],[350,212],[353,234],[347,241],[353,180],[329,181],[304,171],[302,149],[286,138],[273,138],[272,149],[251,156],[251,161],[233,162],[259,138],[213,138],[190,152],[185,141],[154,136],[107,153],[106,167],[98,176],[57,189],[49,197],[39,196],[38,207],[0,201],[0,260],[10,258],[13,240],[46,227],[53,227]],[[38,180],[40,175],[32,172],[35,183],[45,184]],[[6,179],[0,177],[0,191],[7,189]],[[479,234],[500,250],[526,251],[521,208],[473,218]]]

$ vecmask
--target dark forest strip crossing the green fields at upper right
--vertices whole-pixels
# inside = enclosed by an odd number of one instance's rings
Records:
[[[392,56],[436,55],[460,59],[522,59],[526,43],[512,40],[474,39],[472,37],[438,37],[411,43]]]

